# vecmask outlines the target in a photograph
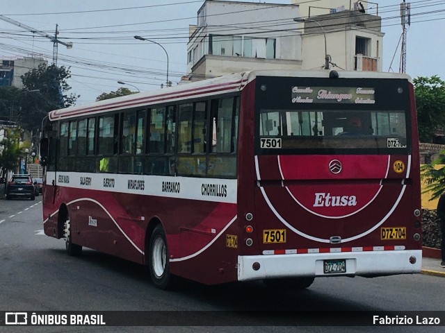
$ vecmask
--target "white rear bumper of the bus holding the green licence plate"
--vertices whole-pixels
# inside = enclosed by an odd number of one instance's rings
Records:
[[[414,256],[416,262],[410,263]],[[323,273],[323,260],[346,259],[346,273]],[[252,266],[259,263],[259,269]],[[254,265],[258,268],[258,264]],[[308,253],[297,255],[238,256],[238,280],[293,278],[302,276],[384,276],[420,273],[421,250],[352,253]]]

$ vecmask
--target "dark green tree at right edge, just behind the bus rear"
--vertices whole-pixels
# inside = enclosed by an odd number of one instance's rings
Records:
[[[445,82],[438,76],[414,78],[419,139],[431,142],[437,128],[445,128]]]

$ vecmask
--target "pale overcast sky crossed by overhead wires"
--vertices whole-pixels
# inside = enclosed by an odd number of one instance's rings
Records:
[[[243,1],[258,2],[258,1]],[[264,1],[261,1],[264,2]],[[290,3],[290,0],[268,0]],[[316,6],[316,1],[314,6]],[[382,17],[383,71],[398,72],[402,27],[401,0],[373,0]],[[81,97],[77,104],[95,101],[102,92],[119,87],[118,80],[152,90],[165,83],[166,56],[161,46],[135,40],[134,35],[161,43],[169,56],[173,84],[186,74],[188,25],[196,24],[197,10],[204,1],[193,0],[20,0],[8,1],[1,15],[54,35],[56,24],[63,42],[58,46],[58,66],[71,67],[69,84]],[[3,3],[4,5],[4,3]],[[171,6],[165,6],[171,5]],[[372,3],[369,7],[373,7]],[[445,1],[411,1],[412,19],[407,33],[407,74],[412,77],[437,74],[445,80]],[[0,20],[0,56],[42,54],[53,60],[53,43]],[[329,50],[328,50],[329,53]],[[136,90],[127,85],[129,89]]]

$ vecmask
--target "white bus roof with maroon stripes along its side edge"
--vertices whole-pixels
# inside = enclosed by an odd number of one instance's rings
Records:
[[[49,112],[49,120],[69,119],[86,114],[121,110],[122,108],[142,108],[158,103],[172,103],[211,96],[222,93],[239,92],[257,76],[282,76],[300,78],[329,78],[332,71],[320,70],[257,70],[209,78],[193,83],[185,83],[166,89],[156,89],[127,96],[106,99],[86,105],[73,106]],[[399,78],[411,80],[406,74],[382,73],[375,71],[337,71],[339,78]]]

